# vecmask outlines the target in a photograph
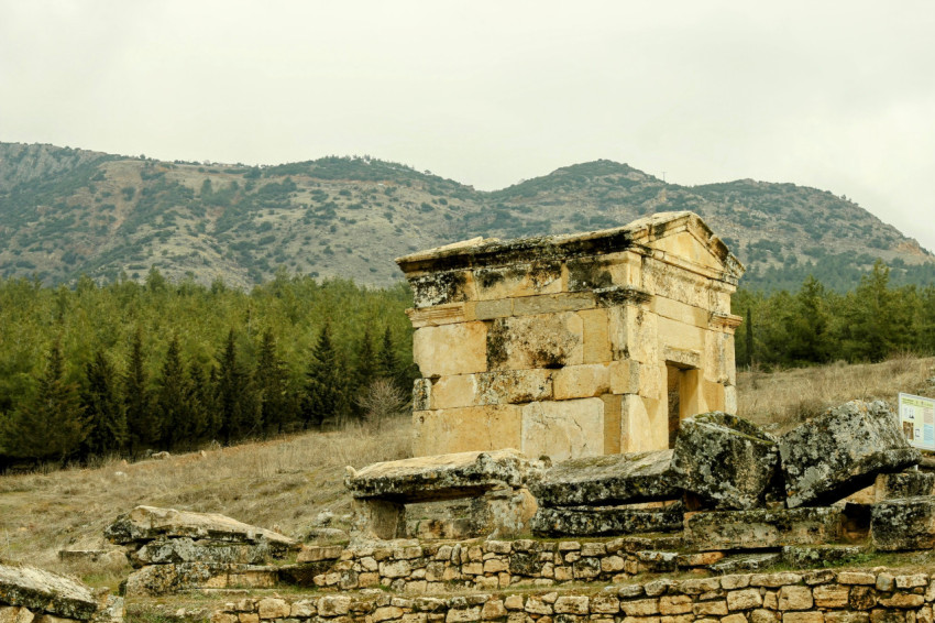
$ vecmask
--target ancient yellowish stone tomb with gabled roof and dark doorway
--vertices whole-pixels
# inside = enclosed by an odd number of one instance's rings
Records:
[[[736,412],[744,269],[692,212],[397,263],[415,293],[416,456],[663,449],[682,418]]]

